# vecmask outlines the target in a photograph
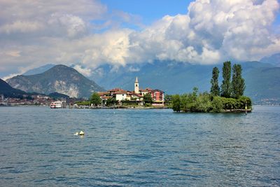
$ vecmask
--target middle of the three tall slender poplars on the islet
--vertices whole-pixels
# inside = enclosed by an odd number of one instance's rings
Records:
[[[232,74],[231,71],[231,62],[223,62],[223,83],[221,85],[221,96],[230,98],[232,92],[232,86],[230,83],[230,77]]]

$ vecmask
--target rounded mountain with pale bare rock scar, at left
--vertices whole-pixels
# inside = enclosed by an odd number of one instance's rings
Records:
[[[20,75],[6,81],[13,88],[46,95],[51,92],[59,92],[70,97],[90,97],[92,92],[104,90],[94,81],[85,78],[76,69],[64,65],[52,67],[42,74]]]

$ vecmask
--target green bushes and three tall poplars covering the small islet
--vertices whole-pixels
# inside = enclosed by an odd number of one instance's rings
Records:
[[[223,83],[218,84],[220,71],[214,67],[211,78],[211,91],[193,92],[183,95],[172,95],[172,109],[176,112],[223,112],[223,111],[251,111],[252,102],[249,97],[244,96],[245,80],[241,76],[240,64],[231,62],[223,63]]]

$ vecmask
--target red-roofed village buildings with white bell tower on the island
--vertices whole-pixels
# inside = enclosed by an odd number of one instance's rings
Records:
[[[123,90],[121,88],[114,88],[111,90],[108,90],[106,92],[98,92],[100,98],[104,103],[110,98],[116,99],[120,104],[122,102],[134,102],[139,105],[144,104],[144,95],[148,94],[151,95],[153,99],[153,105],[154,106],[164,106],[165,105],[165,92],[158,89],[141,89],[139,88],[139,81],[138,78],[136,78],[134,83],[134,90]]]

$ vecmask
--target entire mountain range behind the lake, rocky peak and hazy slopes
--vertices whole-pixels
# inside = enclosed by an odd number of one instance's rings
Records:
[[[241,62],[242,75],[246,81],[245,95],[254,102],[261,99],[280,101],[280,53],[265,57],[262,62]],[[232,62],[232,65],[235,62]],[[104,64],[93,71],[90,81],[73,68],[63,65],[47,64],[33,69],[40,73],[29,76],[15,76],[8,79],[14,88],[31,92],[60,92],[71,97],[88,97],[92,91],[123,88],[134,89],[135,77],[138,76],[140,88],[157,88],[167,94],[191,92],[194,87],[200,92],[209,91],[213,67],[220,70],[219,83],[222,83],[223,64],[200,65],[180,62],[160,62],[133,64],[126,67],[112,67]],[[44,72],[43,72],[44,71]],[[78,82],[77,80],[78,79]],[[97,85],[98,83],[98,85]]]

